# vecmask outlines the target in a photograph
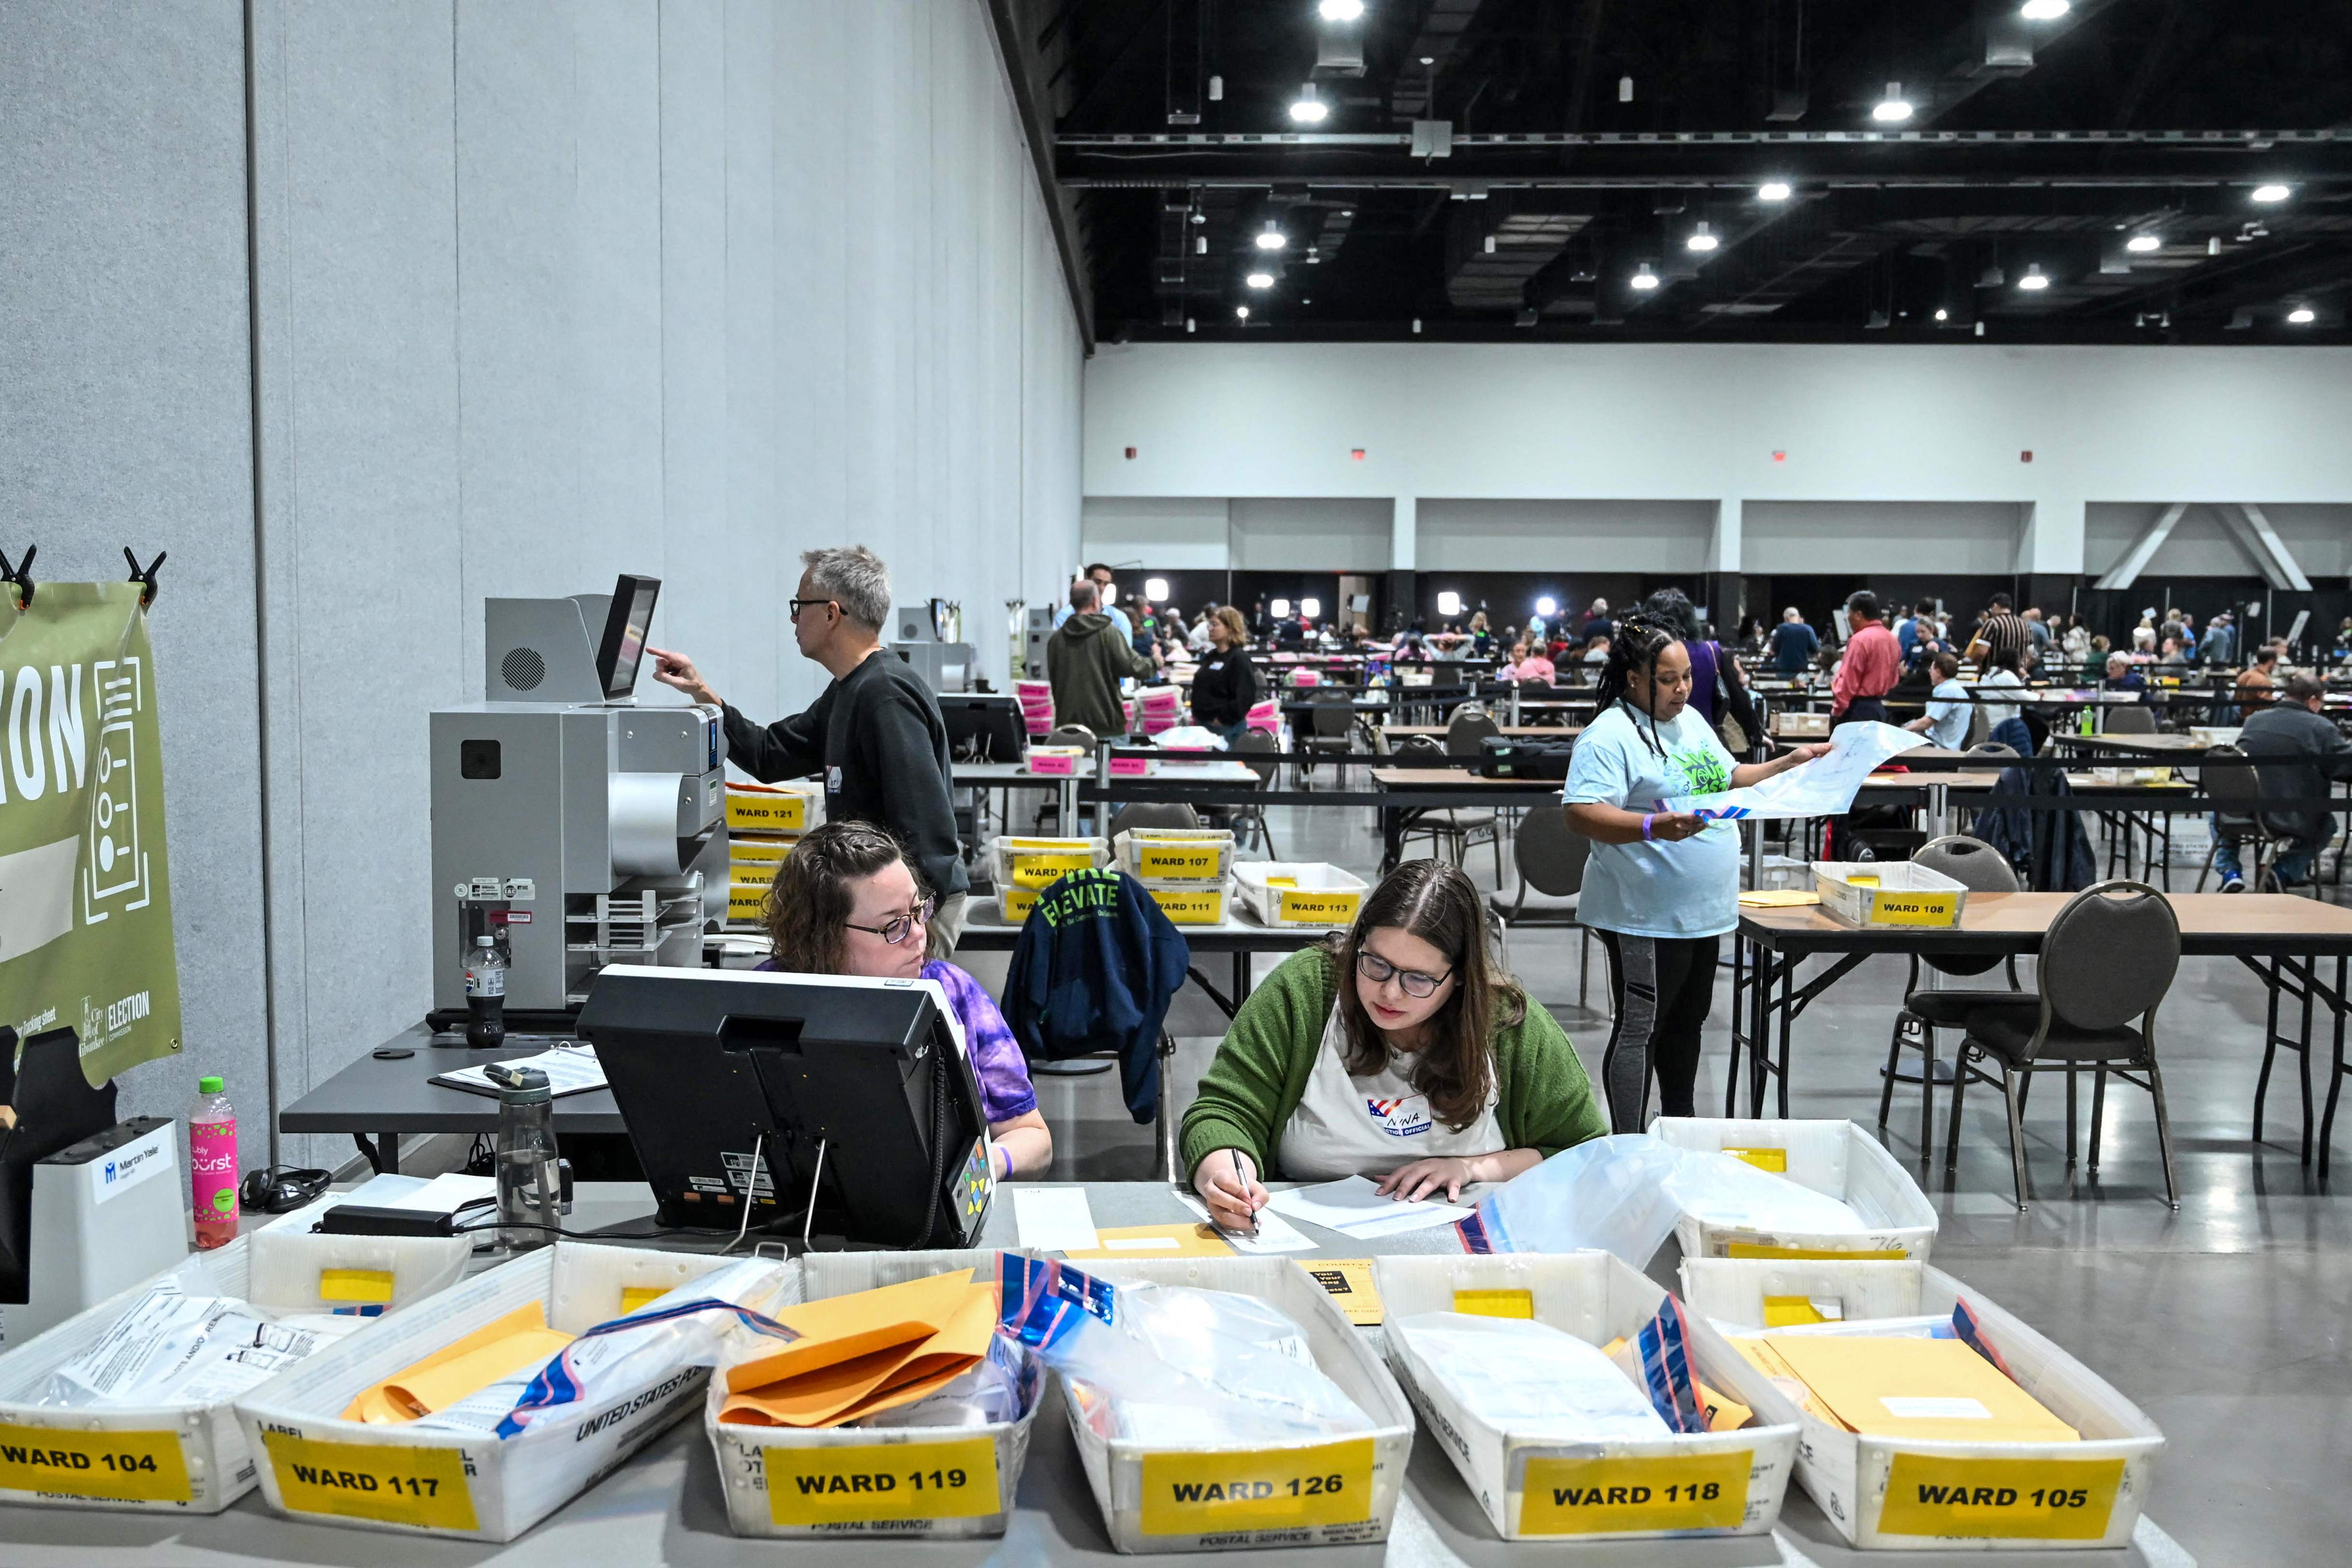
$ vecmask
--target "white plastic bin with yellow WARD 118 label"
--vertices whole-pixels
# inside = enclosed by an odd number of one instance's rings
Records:
[[[1524,1291],[1534,1321],[1590,1345],[1639,1333],[1665,1300],[1665,1291],[1609,1253],[1392,1255],[1376,1258],[1371,1276],[1390,1324],[1456,1312],[1458,1291]],[[1698,1314],[1686,1316],[1698,1380],[1729,1392],[1738,1352]],[[1388,1363],[1503,1540],[1762,1535],[1780,1519],[1797,1460],[1795,1420],[1771,1422],[1757,1410],[1759,1425],[1738,1432],[1564,1443],[1486,1425],[1397,1335],[1388,1335]]]

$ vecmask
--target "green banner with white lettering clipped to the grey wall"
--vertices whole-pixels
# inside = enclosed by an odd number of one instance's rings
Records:
[[[0,590],[0,1023],[82,1077],[179,1051],[162,733],[139,583]]]

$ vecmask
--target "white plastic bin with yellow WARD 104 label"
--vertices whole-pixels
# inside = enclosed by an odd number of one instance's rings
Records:
[[[278,1225],[198,1253],[219,1295],[280,1312],[332,1312],[327,1269],[390,1274],[386,1314],[336,1349],[397,1340],[435,1312],[407,1312],[466,1272],[466,1237],[318,1237]],[[49,1373],[82,1354],[129,1312],[136,1284],[0,1356],[0,1502],[80,1509],[219,1514],[254,1488],[254,1455],[230,1401],[169,1406],[40,1406]]]

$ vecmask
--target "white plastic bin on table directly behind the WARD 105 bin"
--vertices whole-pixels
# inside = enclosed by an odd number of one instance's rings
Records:
[[[1795,1258],[1860,1253],[1924,1262],[1936,1246],[1936,1206],[1910,1171],[1853,1121],[1750,1121],[1658,1117],[1651,1133],[1677,1150],[1731,1150],[1748,1164],[1828,1194],[1863,1218],[1863,1232],[1748,1229],[1675,1220],[1684,1258]]]

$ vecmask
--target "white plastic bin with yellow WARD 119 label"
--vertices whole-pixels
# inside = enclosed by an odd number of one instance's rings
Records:
[[[809,1253],[790,1265],[776,1307],[967,1267],[976,1281],[988,1281],[997,1253]],[[976,1540],[1004,1535],[1044,1399],[1040,1392],[1021,1420],[985,1427],[804,1432],[720,1422],[727,1385],[713,1378],[703,1432],[720,1462],[727,1523],[736,1535]],[[851,1486],[833,1486],[835,1479]]]

